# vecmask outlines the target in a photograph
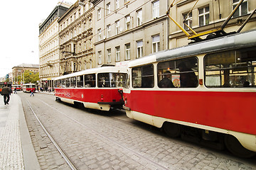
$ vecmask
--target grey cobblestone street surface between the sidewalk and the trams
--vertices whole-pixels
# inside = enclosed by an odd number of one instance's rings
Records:
[[[40,128],[26,100],[78,169],[255,169],[253,159],[167,137],[123,112],[85,111],[50,95],[21,94],[41,169],[69,169]]]

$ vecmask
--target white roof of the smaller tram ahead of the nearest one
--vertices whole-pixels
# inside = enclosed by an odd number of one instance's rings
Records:
[[[77,76],[84,75],[84,74],[96,74],[96,73],[107,73],[107,72],[127,73],[127,68],[126,67],[114,67],[114,66],[97,67],[97,68],[92,68],[92,69],[85,69],[85,70],[82,70],[80,72],[66,74],[66,75],[61,76],[61,77],[56,77],[55,80],[65,79],[65,78],[68,78],[68,77],[77,77]]]

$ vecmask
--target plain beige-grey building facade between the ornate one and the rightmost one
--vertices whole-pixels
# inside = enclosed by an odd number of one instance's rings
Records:
[[[127,65],[168,48],[168,1],[94,0],[92,4],[98,67]]]

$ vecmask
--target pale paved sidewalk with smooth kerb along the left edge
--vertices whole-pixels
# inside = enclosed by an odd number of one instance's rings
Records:
[[[0,96],[0,169],[40,169],[17,94]]]

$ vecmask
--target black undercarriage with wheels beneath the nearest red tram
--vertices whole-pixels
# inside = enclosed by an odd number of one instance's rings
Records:
[[[226,147],[231,153],[238,157],[250,158],[256,155],[256,152],[252,152],[243,147],[233,135],[169,122],[165,122],[162,128],[169,137],[181,137],[183,140],[218,150],[223,150]]]

